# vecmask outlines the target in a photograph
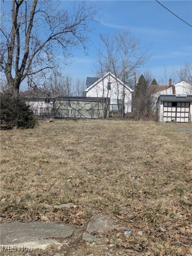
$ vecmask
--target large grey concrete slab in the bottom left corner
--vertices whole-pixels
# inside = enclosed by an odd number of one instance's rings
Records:
[[[70,237],[74,228],[53,222],[1,223],[1,246],[45,249],[50,244],[60,245],[54,237]]]

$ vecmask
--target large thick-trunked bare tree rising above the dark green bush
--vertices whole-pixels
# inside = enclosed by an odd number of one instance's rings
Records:
[[[52,1],[13,0],[11,20],[9,13],[1,15],[1,70],[10,93],[17,94],[27,77],[56,72],[59,54],[68,63],[74,47],[81,44],[86,53],[86,32],[96,12],[85,2],[74,4],[70,14]]]

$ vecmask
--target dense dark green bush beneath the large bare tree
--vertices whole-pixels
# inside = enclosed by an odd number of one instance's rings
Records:
[[[29,105],[20,98],[1,94],[1,129],[9,130],[14,126],[22,129],[32,129],[38,120]]]

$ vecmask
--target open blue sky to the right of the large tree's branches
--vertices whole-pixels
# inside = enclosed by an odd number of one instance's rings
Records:
[[[164,6],[180,18],[192,24],[192,1],[160,1]],[[89,1],[87,1],[87,4]],[[115,30],[131,27],[136,36],[142,37],[142,44],[150,47],[153,57],[145,64],[157,79],[164,76],[163,67],[167,67],[167,75],[171,76],[173,67],[178,68],[185,62],[192,61],[192,28],[176,18],[157,2],[151,1],[93,1],[100,7],[97,18],[102,23],[92,23],[95,30],[90,36],[89,56],[82,49],[75,50],[76,61],[66,72],[74,76],[92,76],[95,59],[95,46],[99,45],[100,32],[113,33]],[[62,1],[62,5],[66,1]],[[70,8],[73,1],[68,1]],[[95,45],[95,46],[94,46]],[[141,70],[142,72],[142,70]]]

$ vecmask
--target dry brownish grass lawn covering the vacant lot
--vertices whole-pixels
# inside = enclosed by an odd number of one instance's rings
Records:
[[[48,218],[86,227],[92,214],[103,212],[133,231],[130,241],[120,236],[127,245],[121,243],[116,255],[134,243],[154,255],[177,255],[178,248],[185,255],[182,244],[191,242],[192,137],[177,129],[189,126],[58,120],[1,131],[1,221]],[[53,207],[67,202],[78,207]],[[115,233],[111,239],[117,240]]]

